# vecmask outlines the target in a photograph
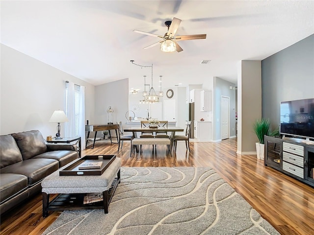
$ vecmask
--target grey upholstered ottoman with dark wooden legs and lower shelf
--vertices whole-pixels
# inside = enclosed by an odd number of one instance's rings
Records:
[[[120,183],[120,166],[121,160],[116,158],[102,175],[60,176],[59,170],[53,172],[41,183],[43,217],[48,216],[48,211],[64,210],[104,209],[108,213],[110,200]],[[102,193],[103,200],[83,204],[86,193]],[[50,202],[50,194],[58,195]]]

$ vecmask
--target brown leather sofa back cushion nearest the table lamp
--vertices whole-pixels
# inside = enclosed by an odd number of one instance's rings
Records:
[[[23,160],[47,152],[46,142],[38,130],[13,133],[12,136],[19,146]]]

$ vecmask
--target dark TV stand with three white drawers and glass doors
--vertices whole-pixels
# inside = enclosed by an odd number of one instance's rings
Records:
[[[264,137],[264,165],[314,187],[314,142],[289,137]]]

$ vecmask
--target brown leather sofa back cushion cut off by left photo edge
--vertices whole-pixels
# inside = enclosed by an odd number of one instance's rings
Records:
[[[22,154],[11,135],[0,136],[0,168],[21,162]]]

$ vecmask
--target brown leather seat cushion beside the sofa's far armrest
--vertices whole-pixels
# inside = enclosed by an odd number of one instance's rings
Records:
[[[51,151],[47,153],[39,154],[32,159],[37,158],[49,158],[54,159],[59,162],[59,167],[62,167],[78,158],[78,152],[71,150],[59,150],[59,151]]]

